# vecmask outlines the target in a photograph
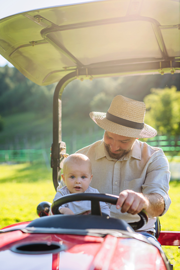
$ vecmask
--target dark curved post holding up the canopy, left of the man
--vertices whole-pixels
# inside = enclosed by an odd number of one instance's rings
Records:
[[[57,189],[61,174],[60,160],[59,160],[59,143],[62,140],[61,132],[61,97],[65,86],[76,79],[76,71],[64,76],[57,84],[53,96],[53,143],[51,149],[51,167],[52,179],[55,190]]]

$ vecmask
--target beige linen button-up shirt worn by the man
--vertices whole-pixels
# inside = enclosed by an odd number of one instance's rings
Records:
[[[103,140],[93,143],[76,153],[86,155],[92,163],[92,181],[90,186],[100,193],[119,195],[122,190],[130,189],[136,192],[161,194],[168,210],[171,200],[168,195],[170,172],[169,164],[162,149],[151,147],[147,143],[135,141],[132,151],[115,160],[110,158]],[[111,217],[122,218],[127,222],[138,221],[139,216],[121,213],[116,205],[110,205]],[[148,223],[141,229],[154,231],[156,217],[149,218]]]

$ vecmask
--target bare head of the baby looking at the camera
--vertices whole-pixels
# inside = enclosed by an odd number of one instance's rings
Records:
[[[90,159],[82,154],[70,155],[64,161],[61,177],[70,193],[84,192],[92,179]]]

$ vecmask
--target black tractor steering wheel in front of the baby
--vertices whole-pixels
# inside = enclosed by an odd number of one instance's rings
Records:
[[[62,196],[61,198],[54,201],[51,205],[51,211],[53,215],[61,214],[59,207],[67,202],[74,201],[91,201],[91,215],[102,216],[99,202],[109,202],[116,205],[119,196],[102,193],[73,193]],[[142,228],[148,222],[148,215],[143,209],[140,213],[140,221],[128,223],[135,231]]]

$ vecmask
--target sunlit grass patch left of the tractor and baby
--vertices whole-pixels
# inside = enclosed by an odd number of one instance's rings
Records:
[[[0,171],[0,228],[33,220],[38,217],[38,203],[52,202],[55,196],[52,172],[45,165],[0,165]]]

